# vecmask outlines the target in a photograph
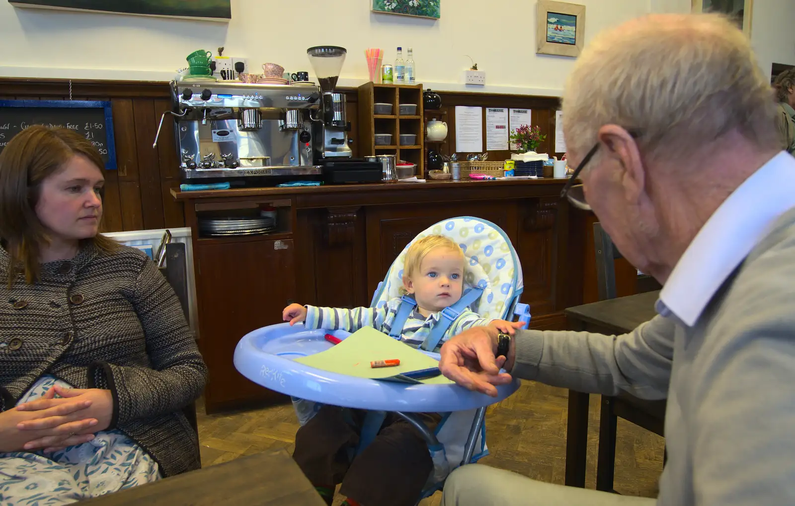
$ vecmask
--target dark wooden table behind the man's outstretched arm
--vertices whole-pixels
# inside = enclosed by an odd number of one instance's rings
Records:
[[[655,290],[568,308],[564,311],[568,329],[607,335],[626,334],[657,315],[654,303],[659,296],[659,290]],[[588,401],[588,393],[568,391],[565,484],[573,487],[585,486]]]

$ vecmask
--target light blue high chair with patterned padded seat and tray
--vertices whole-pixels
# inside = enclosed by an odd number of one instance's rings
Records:
[[[460,244],[465,257],[461,301],[444,309],[429,338],[420,347],[433,353],[448,328],[467,307],[485,318],[513,320],[518,316],[527,327],[529,306],[519,303],[522,294],[522,266],[510,240],[497,225],[474,217],[443,220],[425,229],[411,243],[431,234],[449,236]],[[370,307],[380,307],[401,297],[403,264],[411,243],[397,256],[386,277],[378,283]],[[403,298],[393,328],[402,328],[414,301]],[[476,462],[488,454],[484,418],[486,408],[509,397],[520,385],[518,379],[497,387],[498,397],[471,392],[459,385],[403,385],[392,381],[354,378],[318,370],[293,358],[312,355],[332,347],[324,335],[344,339],[349,332],[308,330],[304,324],[276,324],[243,336],[235,349],[235,367],[251,381],[293,397],[301,424],[322,404],[368,410],[357,453],[378,434],[385,412],[395,412],[421,432],[434,463],[434,470],[420,500],[442,488],[453,469]],[[394,335],[399,339],[399,335]],[[413,413],[443,412],[436,430],[430,431]]]

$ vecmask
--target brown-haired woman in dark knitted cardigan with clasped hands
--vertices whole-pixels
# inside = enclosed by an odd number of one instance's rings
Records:
[[[207,370],[157,266],[98,233],[99,167],[64,128],[27,128],[0,153],[3,504],[65,504],[199,467],[180,409]]]

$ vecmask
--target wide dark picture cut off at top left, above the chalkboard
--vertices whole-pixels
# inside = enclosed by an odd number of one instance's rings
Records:
[[[87,12],[137,14],[139,16],[168,16],[229,21],[231,0],[8,0],[16,7],[37,9],[82,10]]]

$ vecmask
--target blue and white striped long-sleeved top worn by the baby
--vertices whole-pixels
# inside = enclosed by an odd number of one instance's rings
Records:
[[[328,328],[329,330],[344,330],[347,332],[356,332],[359,328],[374,327],[379,331],[389,334],[392,330],[392,322],[397,315],[397,309],[400,308],[401,297],[391,299],[386,305],[380,308],[319,308],[313,305],[306,306],[306,321],[304,325],[306,328]],[[419,347],[431,332],[433,324],[439,320],[438,312],[432,313],[425,318],[422,316],[417,308],[411,312],[409,317],[405,320],[403,330],[401,332],[401,341],[409,346]],[[487,325],[493,320],[492,318],[481,318],[477,313],[465,309],[456,321],[452,322],[447,332],[440,340],[436,349],[444,344],[452,335],[460,334],[467,330],[467,328],[479,325]]]

